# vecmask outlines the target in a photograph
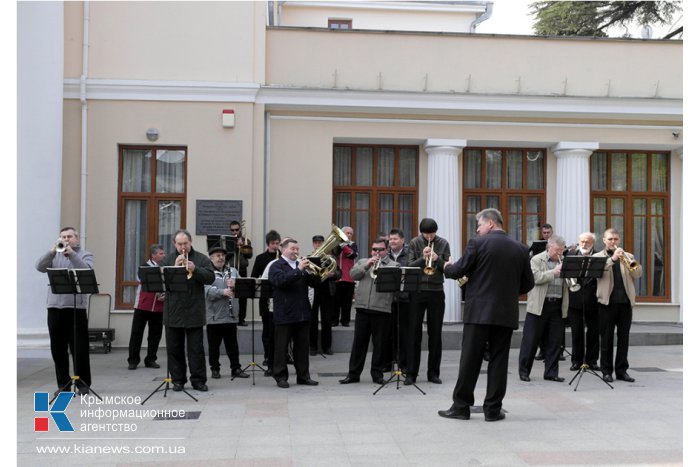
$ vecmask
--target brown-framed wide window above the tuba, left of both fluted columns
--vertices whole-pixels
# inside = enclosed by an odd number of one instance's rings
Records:
[[[369,254],[379,232],[417,229],[418,148],[342,145],[333,147],[333,218],[355,231],[360,256]]]

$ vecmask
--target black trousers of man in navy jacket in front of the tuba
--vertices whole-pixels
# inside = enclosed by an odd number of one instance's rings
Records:
[[[275,357],[272,376],[275,381],[287,381],[287,345],[293,342],[292,356],[297,371],[297,383],[311,379],[309,375],[309,322],[275,325]]]

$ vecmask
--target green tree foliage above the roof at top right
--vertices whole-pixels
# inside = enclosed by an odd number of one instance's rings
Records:
[[[606,37],[609,28],[670,24],[681,1],[538,1],[530,4],[535,34]],[[680,28],[682,31],[682,27]]]

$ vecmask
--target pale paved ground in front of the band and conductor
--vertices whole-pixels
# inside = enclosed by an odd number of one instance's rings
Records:
[[[162,351],[161,351],[162,353]],[[425,368],[425,352],[422,368]],[[242,356],[248,362],[250,356]],[[536,362],[532,382],[517,378],[517,350],[510,354],[504,421],[446,420],[437,411],[451,403],[459,351],[443,353],[442,379],[435,385],[419,377],[416,388],[396,384],[376,395],[366,369],[359,384],[340,385],[349,354],[311,357],[316,387],[289,389],[256,373],[243,380],[209,380],[209,392],[157,393],[164,371],[126,368],[126,352],[93,353],[93,388],[109,403],[88,405],[73,399],[66,414],[76,429],[34,431],[33,393],[53,391],[49,359],[17,363],[17,461],[19,465],[186,465],[186,466],[362,466],[362,465],[680,465],[683,462],[683,347],[634,346],[630,349],[635,383],[608,388],[591,374],[577,391],[567,384],[570,363],[560,368],[565,383],[542,380]],[[161,355],[164,360],[164,355]],[[164,363],[164,362],[161,362]],[[482,369],[482,372],[484,369]],[[292,370],[293,371],[293,370]],[[424,371],[424,370],[423,370]],[[424,373],[423,373],[424,376]],[[576,383],[574,383],[575,385]],[[477,386],[483,398],[485,377]],[[123,397],[119,397],[123,396]],[[102,409],[84,414],[81,410]],[[475,408],[477,412],[480,407]],[[194,419],[134,418],[136,411],[186,411]],[[121,413],[117,411],[122,411]],[[191,414],[190,414],[191,413]],[[124,430],[128,427],[131,431]],[[85,431],[86,429],[102,431]],[[109,430],[109,431],[104,431]],[[63,454],[39,453],[64,449]],[[124,453],[129,449],[130,453]],[[139,451],[138,453],[136,451]],[[121,453],[116,453],[121,452]]]

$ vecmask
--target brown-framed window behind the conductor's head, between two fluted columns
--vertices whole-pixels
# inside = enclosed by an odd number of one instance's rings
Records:
[[[476,236],[474,215],[496,208],[508,235],[530,244],[547,222],[543,149],[468,148],[464,151],[464,244]]]

